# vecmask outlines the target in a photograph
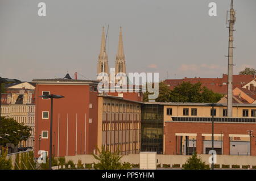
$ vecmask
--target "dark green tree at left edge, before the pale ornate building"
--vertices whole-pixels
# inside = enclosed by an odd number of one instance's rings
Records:
[[[6,139],[0,138],[0,145],[6,146],[11,142],[16,146],[20,141],[27,140],[31,136],[31,130],[31,127],[18,123],[13,118],[1,117],[0,135]]]

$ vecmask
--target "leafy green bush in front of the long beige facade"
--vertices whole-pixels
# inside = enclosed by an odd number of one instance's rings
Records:
[[[94,158],[100,161],[99,163],[94,163],[94,169],[96,170],[126,170],[131,169],[131,165],[127,163],[121,163],[122,156],[119,151],[111,153],[108,149],[104,150],[104,147],[98,149],[99,155],[93,154]]]

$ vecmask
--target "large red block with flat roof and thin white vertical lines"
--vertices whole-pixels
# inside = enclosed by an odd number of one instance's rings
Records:
[[[97,145],[97,81],[35,79],[35,153],[49,151],[51,101],[43,94],[63,95],[53,100],[53,155],[92,154]]]

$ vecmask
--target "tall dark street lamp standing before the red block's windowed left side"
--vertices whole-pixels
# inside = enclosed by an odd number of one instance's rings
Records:
[[[53,99],[60,99],[64,98],[62,95],[54,95],[54,94],[47,94],[39,96],[40,98],[44,99],[51,99],[51,123],[50,123],[50,142],[49,142],[49,170],[52,169],[52,112],[53,112]]]

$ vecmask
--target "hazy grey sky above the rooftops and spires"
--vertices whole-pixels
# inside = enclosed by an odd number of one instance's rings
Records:
[[[38,16],[38,3],[46,16]],[[217,16],[209,16],[210,2]],[[96,79],[102,26],[114,68],[122,26],[127,72],[161,80],[227,73],[230,0],[0,0],[0,76]],[[234,74],[256,69],[256,1],[234,0]]]

